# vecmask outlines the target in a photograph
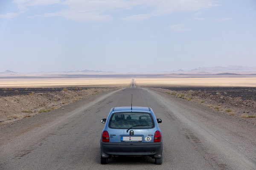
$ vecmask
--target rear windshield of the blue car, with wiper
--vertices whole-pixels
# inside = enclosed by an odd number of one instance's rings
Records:
[[[112,114],[108,126],[114,129],[119,129],[119,128],[126,129],[132,126],[133,126],[133,129],[144,129],[144,128],[153,128],[154,121],[150,113],[118,112],[118,113]]]

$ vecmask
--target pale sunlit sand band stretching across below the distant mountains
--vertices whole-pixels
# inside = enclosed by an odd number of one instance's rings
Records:
[[[0,79],[0,88],[38,88],[69,86],[129,86],[131,78],[37,78]],[[139,86],[242,86],[256,87],[256,77],[134,78]]]

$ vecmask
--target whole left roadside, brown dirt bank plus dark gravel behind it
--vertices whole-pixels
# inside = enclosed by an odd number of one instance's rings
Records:
[[[0,89],[0,125],[52,111],[113,88]]]

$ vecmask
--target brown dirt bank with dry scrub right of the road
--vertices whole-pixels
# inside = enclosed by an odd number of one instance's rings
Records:
[[[242,97],[227,96],[227,92],[216,92],[209,94],[206,91],[173,91],[166,88],[153,88],[154,90],[165,92],[177,98],[186,99],[205,105],[215,111],[220,111],[231,116],[243,118],[256,125],[256,101],[255,99],[243,99]],[[247,89],[245,89],[247,90]],[[250,91],[249,91],[250,92]],[[255,91],[253,91],[255,92]]]

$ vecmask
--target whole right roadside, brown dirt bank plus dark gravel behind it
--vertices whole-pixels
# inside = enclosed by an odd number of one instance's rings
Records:
[[[204,105],[256,125],[256,88],[151,87],[151,89]]]

